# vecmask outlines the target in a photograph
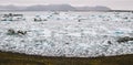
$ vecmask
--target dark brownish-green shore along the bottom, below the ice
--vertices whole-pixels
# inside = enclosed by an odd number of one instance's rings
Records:
[[[0,51],[0,65],[133,65],[133,54],[108,57],[48,57]]]

